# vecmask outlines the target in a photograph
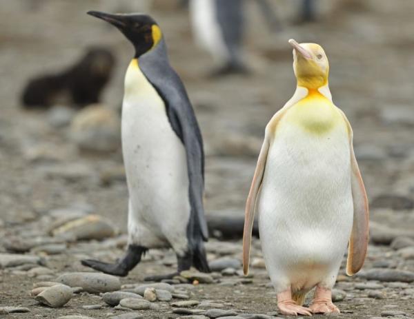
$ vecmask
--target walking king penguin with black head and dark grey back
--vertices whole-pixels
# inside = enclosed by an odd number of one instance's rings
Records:
[[[115,25],[134,45],[122,103],[122,153],[128,185],[128,251],[117,263],[82,260],[126,276],[150,248],[172,247],[178,272],[208,272],[204,241],[204,151],[186,89],[170,66],[159,25],[146,14],[88,14]]]

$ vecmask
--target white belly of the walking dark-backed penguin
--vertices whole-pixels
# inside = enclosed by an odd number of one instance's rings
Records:
[[[131,63],[122,109],[122,151],[130,207],[130,242],[186,249],[190,216],[186,151],[164,101]]]

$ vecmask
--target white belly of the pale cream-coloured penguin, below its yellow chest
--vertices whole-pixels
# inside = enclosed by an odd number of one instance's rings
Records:
[[[257,203],[266,267],[277,290],[335,282],[353,223],[350,157],[342,125],[322,135],[293,125],[277,131]]]

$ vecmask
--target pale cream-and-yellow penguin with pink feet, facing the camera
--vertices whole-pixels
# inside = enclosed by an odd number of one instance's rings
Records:
[[[289,43],[297,88],[266,125],[246,202],[244,273],[257,210],[266,269],[281,313],[338,313],[331,289],[347,243],[347,274],[364,264],[368,200],[351,125],[332,102],[324,50],[315,43]],[[302,307],[314,287],[313,302]]]

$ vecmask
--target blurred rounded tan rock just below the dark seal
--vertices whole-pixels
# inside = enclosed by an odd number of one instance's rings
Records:
[[[103,105],[88,105],[79,111],[70,125],[70,137],[81,150],[113,152],[121,144],[117,112]]]

